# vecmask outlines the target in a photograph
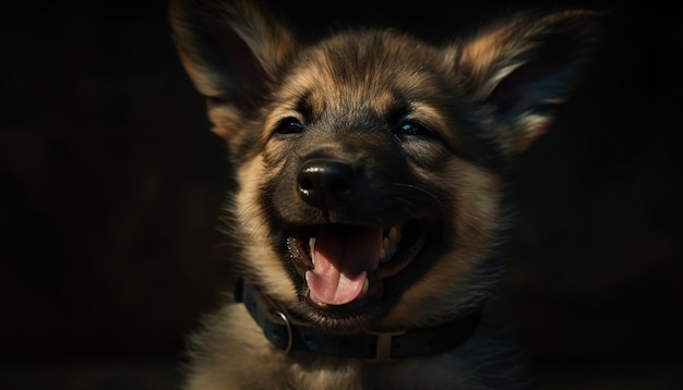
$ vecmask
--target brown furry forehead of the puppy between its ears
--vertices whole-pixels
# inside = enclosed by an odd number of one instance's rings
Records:
[[[439,95],[440,52],[391,32],[348,33],[302,51],[283,84],[280,101],[312,113],[333,106],[371,107],[381,114]]]

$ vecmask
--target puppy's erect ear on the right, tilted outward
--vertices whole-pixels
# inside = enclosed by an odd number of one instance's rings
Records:
[[[459,69],[505,127],[508,155],[546,132],[601,38],[601,15],[576,10],[512,19],[459,47]]]

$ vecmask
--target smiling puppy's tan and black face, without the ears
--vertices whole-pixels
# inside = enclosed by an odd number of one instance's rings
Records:
[[[274,89],[238,204],[267,237],[249,257],[288,275],[296,312],[358,328],[459,301],[499,220],[471,150],[500,156],[456,81],[433,48],[372,33],[303,51]]]

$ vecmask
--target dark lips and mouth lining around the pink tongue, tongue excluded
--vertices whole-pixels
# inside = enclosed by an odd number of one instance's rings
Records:
[[[320,224],[302,226],[291,229],[287,236],[289,257],[303,281],[302,292],[305,302],[327,313],[351,313],[383,297],[384,279],[402,272],[418,256],[424,246],[429,224],[422,220],[409,220],[391,227],[381,227],[383,244],[379,251],[379,266],[366,270],[367,279],[360,294],[354,301],[340,305],[326,304],[312,297],[307,282],[308,273],[315,268],[312,246],[315,245],[316,232],[320,229]],[[344,229],[368,229],[368,227],[344,224]]]

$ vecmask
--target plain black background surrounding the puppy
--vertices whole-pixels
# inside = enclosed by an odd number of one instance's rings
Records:
[[[271,1],[307,37],[444,41],[526,9],[609,10],[608,39],[517,163],[502,292],[546,389],[678,389],[682,36],[664,3]],[[183,337],[229,284],[223,143],[166,2],[0,12],[0,388],[173,389]]]

